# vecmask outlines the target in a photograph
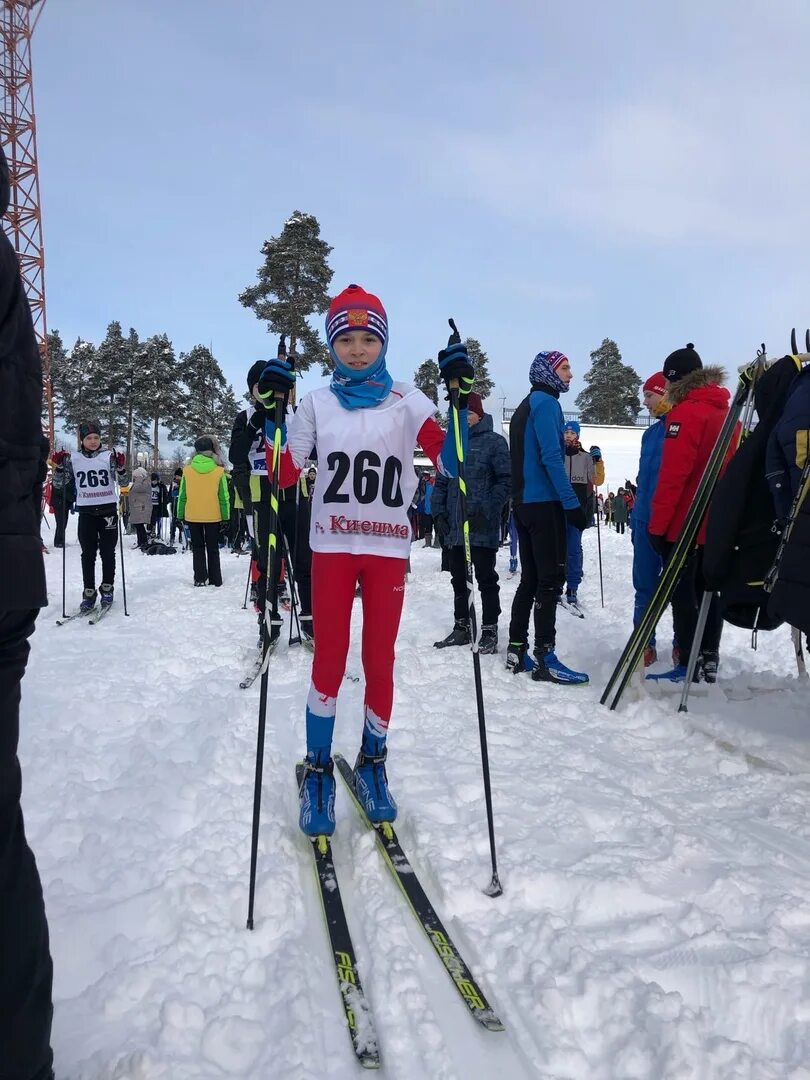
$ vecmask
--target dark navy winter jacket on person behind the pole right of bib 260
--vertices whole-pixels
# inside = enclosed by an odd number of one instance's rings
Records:
[[[483,531],[470,531],[472,548],[498,548],[500,544],[501,510],[509,499],[509,446],[503,435],[492,430],[492,418],[485,414],[470,428],[467,468],[467,515],[483,513],[488,526]],[[431,513],[447,514],[450,532],[447,544],[457,548],[464,542],[461,532],[458,481],[441,473],[431,497]]]

